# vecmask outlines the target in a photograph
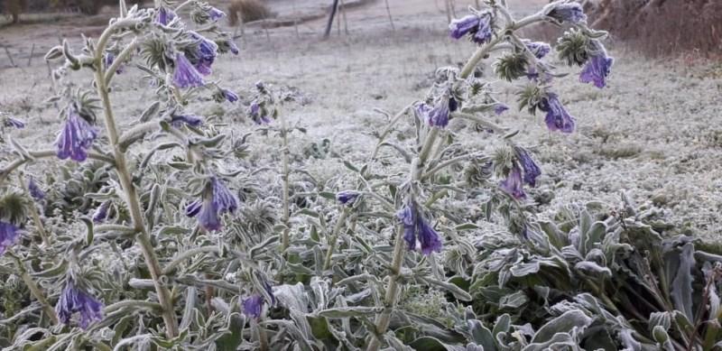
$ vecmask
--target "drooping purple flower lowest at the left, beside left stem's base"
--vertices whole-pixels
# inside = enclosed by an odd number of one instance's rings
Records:
[[[79,289],[72,280],[68,280],[60,294],[58,304],[55,305],[55,312],[60,322],[66,325],[70,323],[73,314],[79,313],[80,328],[85,329],[94,320],[103,319],[103,303],[88,292]]]

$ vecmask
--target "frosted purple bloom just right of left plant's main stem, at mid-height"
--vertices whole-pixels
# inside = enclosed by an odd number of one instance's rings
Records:
[[[202,199],[195,200],[186,207],[186,216],[197,217],[198,223],[208,231],[220,230],[220,216],[225,212],[235,212],[238,199],[226,185],[213,176],[208,180]]]

